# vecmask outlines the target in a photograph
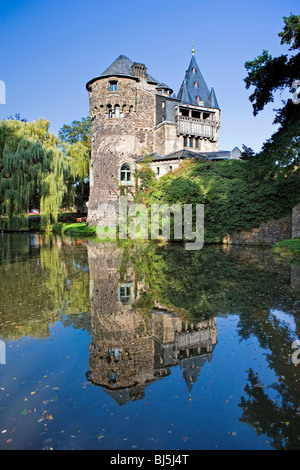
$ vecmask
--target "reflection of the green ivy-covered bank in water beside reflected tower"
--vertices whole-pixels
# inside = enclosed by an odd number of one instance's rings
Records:
[[[140,309],[150,311],[158,301],[168,308],[176,307],[190,319],[240,313],[244,321],[241,335],[251,334],[253,311],[260,316],[268,315],[272,308],[292,312],[297,301],[289,288],[288,267],[278,271],[274,263],[269,269],[265,259],[264,266],[251,259],[239,260],[218,246],[186,251],[175,244],[135,244],[131,248],[128,244],[123,265],[128,260],[144,280]]]

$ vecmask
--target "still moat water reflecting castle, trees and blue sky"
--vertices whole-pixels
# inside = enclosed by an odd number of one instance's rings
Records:
[[[299,281],[269,248],[0,234],[0,449],[300,449]]]

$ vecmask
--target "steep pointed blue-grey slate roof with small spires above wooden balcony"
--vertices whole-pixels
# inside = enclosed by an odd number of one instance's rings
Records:
[[[214,89],[209,91],[193,53],[177,98],[183,104],[219,109]],[[199,103],[201,102],[201,104]]]

